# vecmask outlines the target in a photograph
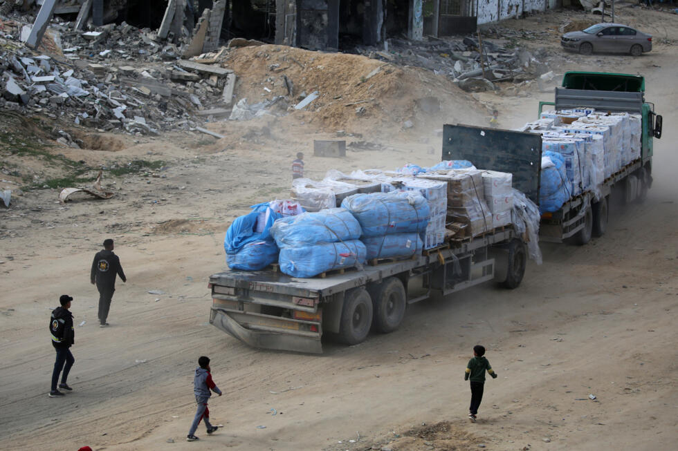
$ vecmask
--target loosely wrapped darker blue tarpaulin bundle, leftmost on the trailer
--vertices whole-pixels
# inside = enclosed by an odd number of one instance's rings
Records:
[[[261,215],[266,213],[268,215]],[[257,220],[265,218],[266,224]],[[223,249],[226,251],[226,263],[230,269],[257,271],[264,269],[277,258],[278,249],[271,239],[270,230],[275,220],[282,218],[280,213],[268,208],[268,202],[252,206],[252,211],[236,218],[230,224],[223,238]],[[257,229],[262,230],[257,232]]]

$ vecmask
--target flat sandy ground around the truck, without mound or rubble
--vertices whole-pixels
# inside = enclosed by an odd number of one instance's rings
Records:
[[[668,32],[678,22],[659,12],[627,13],[622,18]],[[551,14],[509,22],[529,28],[559,21]],[[306,151],[306,172],[316,178],[332,168],[433,164],[440,151],[433,131],[445,117],[428,131],[419,126],[409,140],[394,128],[392,140],[382,141],[385,150],[349,151],[345,160],[310,155],[314,137],[336,137],[336,130],[318,131],[304,115],[212,124],[229,135],[216,142],[118,136],[125,145],[114,153],[64,150],[89,164],[138,157],[167,164],[147,176],[104,180],[116,190],[109,201],[83,197],[64,206],[57,191],[39,190],[0,209],[0,448],[674,447],[678,51],[670,44],[675,37],[666,39],[669,44],[656,42],[651,54],[636,59],[567,54],[562,60],[562,70],[647,78],[646,99],[663,114],[664,136],[655,141],[654,186],[644,204],[612,211],[605,236],[585,247],[542,244],[544,264],[529,265],[518,289],[486,285],[411,305],[398,331],[354,347],[326,343],[321,356],[252,349],[208,324],[207,278],[226,267],[223,232],[250,204],[284,195],[296,151]],[[558,41],[549,46],[560,52]],[[552,94],[474,97],[480,106],[468,107],[469,122],[482,123],[489,104],[500,108],[504,126],[515,126]],[[100,329],[89,267],[109,237],[128,281],[118,281],[111,327]],[[49,399],[54,352],[46,323],[62,293],[75,298],[76,362],[68,381],[74,391]],[[477,343],[488,348],[499,378],[486,384],[479,421],[471,424],[463,372]],[[201,426],[201,441],[186,443],[192,373],[203,354],[212,358],[224,391],[210,402],[212,423],[224,428],[208,436]]]

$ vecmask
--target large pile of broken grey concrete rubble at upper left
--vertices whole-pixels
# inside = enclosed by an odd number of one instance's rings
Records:
[[[230,113],[207,106],[230,106],[232,70],[178,59],[176,47],[156,43],[150,30],[122,23],[69,32],[55,23],[51,32],[62,48],[48,56],[21,43],[20,24],[4,25],[0,108],[143,134],[192,129],[212,114]],[[216,63],[224,52],[199,61]]]

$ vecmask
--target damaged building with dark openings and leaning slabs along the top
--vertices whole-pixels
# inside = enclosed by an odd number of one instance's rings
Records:
[[[309,50],[351,51],[384,45],[392,37],[464,35],[477,25],[560,6],[561,0],[17,0],[41,6],[28,44],[39,41],[52,15],[76,30],[129,23],[157,30],[199,55],[234,37]],[[12,1],[5,3],[5,8]],[[34,4],[35,3],[35,4]]]

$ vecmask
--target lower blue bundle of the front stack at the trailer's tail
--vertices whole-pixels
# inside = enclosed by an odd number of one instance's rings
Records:
[[[363,265],[365,244],[360,240],[347,240],[283,247],[278,262],[284,274],[309,278],[332,269]]]

